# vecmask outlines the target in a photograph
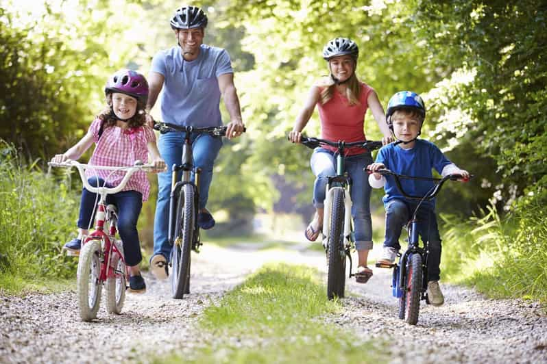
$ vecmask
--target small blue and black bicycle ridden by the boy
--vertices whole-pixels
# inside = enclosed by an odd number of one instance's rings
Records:
[[[370,171],[367,170],[367,172]],[[441,179],[411,177],[396,174],[388,169],[380,169],[377,170],[376,173],[393,176],[398,190],[405,198],[420,201],[415,208],[411,219],[406,223],[406,229],[409,235],[409,246],[402,254],[398,253],[398,263],[376,263],[376,267],[378,268],[393,268],[393,280],[391,287],[393,297],[399,299],[399,318],[408,324],[415,325],[418,322],[418,315],[420,313],[420,300],[426,300],[426,303],[429,303],[427,296],[427,258],[429,249],[428,242],[424,242],[424,246],[420,246],[417,229],[418,220],[416,218],[417,212],[424,201],[432,200],[435,196],[437,196],[437,194],[439,194],[443,183],[449,179],[452,181],[457,181],[462,177],[460,174],[448,174]],[[400,181],[401,179],[433,181],[434,185],[424,196],[412,196],[404,192]]]

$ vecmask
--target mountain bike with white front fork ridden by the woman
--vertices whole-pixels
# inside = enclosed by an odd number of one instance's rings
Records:
[[[308,148],[315,149],[318,146],[330,145],[337,149],[336,176],[327,179],[327,194],[324,202],[324,218],[322,242],[327,255],[327,297],[329,300],[343,298],[345,293],[345,259],[350,260],[350,278],[352,273],[351,252],[355,248],[353,222],[352,222],[352,199],[350,187],[352,180],[345,171],[345,148],[361,146],[367,151],[373,151],[382,146],[382,142],[363,140],[361,142],[346,143],[330,142],[318,138],[306,138],[302,136],[302,144]]]

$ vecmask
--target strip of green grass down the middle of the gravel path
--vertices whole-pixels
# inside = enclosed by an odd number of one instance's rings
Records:
[[[191,356],[154,363],[372,363],[386,359],[372,342],[321,320],[339,313],[318,272],[302,265],[265,265],[204,312],[206,340]]]

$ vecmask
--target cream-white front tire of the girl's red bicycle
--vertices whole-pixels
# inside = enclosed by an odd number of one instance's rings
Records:
[[[82,321],[97,317],[101,303],[101,242],[91,240],[82,247],[76,275],[78,309]]]

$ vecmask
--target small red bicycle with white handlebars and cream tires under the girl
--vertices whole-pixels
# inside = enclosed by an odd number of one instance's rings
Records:
[[[77,296],[80,318],[82,321],[91,321],[97,317],[101,302],[101,290],[106,283],[106,309],[108,313],[121,313],[127,289],[129,270],[125,266],[123,244],[116,239],[117,208],[106,205],[106,196],[120,192],[134,172],[156,170],[154,166],[136,164],[127,167],[92,166],[80,164],[77,161],[67,160],[63,163],[48,163],[52,167],[77,168],[84,187],[89,192],[99,196],[95,215],[95,230],[82,240],[82,250],[77,268]],[[125,172],[123,179],[116,187],[104,185],[93,187],[86,177],[86,170],[112,170]],[[108,181],[108,178],[106,179]]]

